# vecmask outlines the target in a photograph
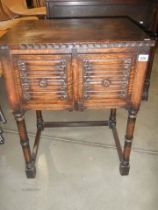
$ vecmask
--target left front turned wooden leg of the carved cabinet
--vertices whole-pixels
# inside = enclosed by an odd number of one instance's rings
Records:
[[[30,144],[29,144],[29,139],[27,136],[27,130],[26,130],[26,125],[25,125],[25,120],[24,120],[24,114],[16,113],[14,114],[14,116],[17,122],[17,127],[19,131],[19,136],[20,136],[20,143],[22,146],[23,154],[24,154],[24,159],[25,159],[25,164],[26,164],[26,176],[28,178],[34,178],[36,175],[36,168],[35,168],[34,161],[32,160]]]

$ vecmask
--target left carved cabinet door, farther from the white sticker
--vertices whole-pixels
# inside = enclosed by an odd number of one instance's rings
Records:
[[[14,55],[17,92],[31,109],[72,107],[70,55]]]

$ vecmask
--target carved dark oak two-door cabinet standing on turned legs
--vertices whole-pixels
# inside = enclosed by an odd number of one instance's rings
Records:
[[[119,33],[118,33],[119,32]],[[126,18],[21,22],[0,41],[10,107],[26,163],[35,177],[35,160],[45,127],[109,126],[129,173],[129,158],[150,51],[155,41]],[[128,110],[125,144],[116,131],[116,108]],[[106,121],[45,122],[41,110],[110,109]],[[36,110],[37,133],[31,152],[24,113]]]

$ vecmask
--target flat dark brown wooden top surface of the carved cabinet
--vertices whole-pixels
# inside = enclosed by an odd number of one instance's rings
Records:
[[[149,36],[128,18],[21,21],[0,44],[146,41]],[[150,42],[150,41],[148,41]]]

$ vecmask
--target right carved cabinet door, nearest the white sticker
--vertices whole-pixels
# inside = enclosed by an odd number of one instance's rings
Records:
[[[135,76],[135,56],[126,53],[81,54],[79,101],[87,108],[126,106]]]

